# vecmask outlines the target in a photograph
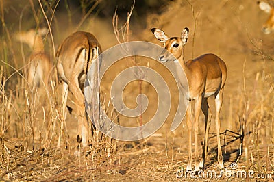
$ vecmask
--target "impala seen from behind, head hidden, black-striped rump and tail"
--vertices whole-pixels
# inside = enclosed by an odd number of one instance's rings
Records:
[[[60,45],[57,52],[57,69],[63,81],[62,88],[62,127],[66,119],[66,101],[68,91],[71,90],[75,97],[76,113],[78,115],[78,135],[77,142],[82,142],[86,146],[86,135],[90,136],[88,121],[84,105],[83,86],[86,73],[101,53],[101,46],[95,36],[88,32],[77,31],[67,37]],[[58,140],[60,146],[61,134]]]

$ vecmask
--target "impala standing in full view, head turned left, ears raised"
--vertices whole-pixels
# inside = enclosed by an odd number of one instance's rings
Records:
[[[186,170],[191,170],[192,163],[192,150],[191,150],[191,133],[192,133],[192,109],[190,101],[195,100],[195,113],[194,113],[194,137],[195,137],[195,171],[199,171],[199,167],[204,168],[205,159],[208,145],[208,131],[210,128],[210,120],[212,112],[208,106],[208,97],[215,97],[216,104],[216,133],[217,133],[217,144],[218,144],[218,167],[220,169],[223,166],[223,155],[221,151],[220,142],[220,119],[219,113],[223,101],[223,88],[225,86],[225,80],[227,77],[227,67],[225,62],[214,54],[204,54],[194,60],[184,62],[182,55],[184,44],[188,39],[188,28],[182,31],[182,37],[169,38],[164,34],[161,29],[151,29],[155,38],[165,43],[165,51],[160,55],[160,61],[167,62],[173,61],[177,66],[182,66],[186,78],[188,79],[189,90],[187,95],[188,109],[186,111],[187,125],[188,125],[188,166]],[[170,52],[170,53],[169,53]],[[173,56],[174,57],[173,57]],[[178,64],[179,62],[179,64]],[[203,159],[199,163],[198,153],[198,120],[200,108],[205,115],[206,133],[203,145]]]

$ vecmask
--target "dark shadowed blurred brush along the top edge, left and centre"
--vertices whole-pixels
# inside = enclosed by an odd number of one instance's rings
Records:
[[[18,26],[20,17],[23,16],[26,27],[42,26],[45,24],[45,18],[40,8],[38,1],[34,0],[1,0],[1,19],[5,20],[5,24],[10,29]],[[135,1],[132,21],[145,25],[144,17],[147,13],[160,13],[170,0],[138,0]],[[55,22],[58,22],[60,17],[66,16],[62,21],[67,21],[67,25],[78,23],[81,18],[86,16],[99,16],[100,18],[109,18],[114,15],[115,9],[121,18],[127,17],[134,1],[127,0],[41,0],[42,7],[47,15],[51,15],[55,11],[53,17]],[[33,7],[32,7],[33,6]],[[32,10],[32,11],[29,11]],[[36,19],[34,10],[38,19]],[[92,10],[91,12],[89,12]],[[61,15],[62,14],[62,15]],[[61,15],[61,16],[60,16]],[[88,18],[88,17],[86,17]],[[38,25],[37,25],[38,23]],[[3,34],[3,21],[1,23],[1,34]]]

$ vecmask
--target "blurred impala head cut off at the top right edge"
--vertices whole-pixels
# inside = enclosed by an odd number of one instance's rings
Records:
[[[274,30],[274,8],[264,1],[258,1],[258,6],[261,10],[269,14],[269,18],[262,27],[264,34],[270,34]]]

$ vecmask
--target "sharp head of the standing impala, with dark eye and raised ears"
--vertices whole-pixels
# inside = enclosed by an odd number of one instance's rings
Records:
[[[182,56],[182,49],[184,44],[186,44],[188,40],[188,31],[189,29],[186,27],[182,31],[181,38],[178,37],[171,37],[169,38],[164,34],[164,31],[161,29],[151,29],[152,33],[154,34],[155,38],[160,40],[160,42],[164,42],[165,51],[159,56],[159,60],[162,62],[167,61],[174,61],[174,58],[179,59]],[[169,53],[169,52],[170,53]],[[172,55],[171,55],[172,54]]]

